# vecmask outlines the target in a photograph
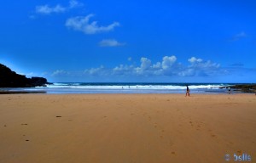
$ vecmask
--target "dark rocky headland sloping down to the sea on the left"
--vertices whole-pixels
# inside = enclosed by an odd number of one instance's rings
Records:
[[[0,87],[45,87],[46,84],[48,82],[44,77],[26,78],[0,64]]]

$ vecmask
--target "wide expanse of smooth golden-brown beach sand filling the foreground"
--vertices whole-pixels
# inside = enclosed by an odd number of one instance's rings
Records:
[[[226,154],[256,162],[254,94],[0,95],[1,163],[209,163]]]

